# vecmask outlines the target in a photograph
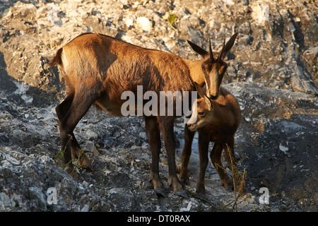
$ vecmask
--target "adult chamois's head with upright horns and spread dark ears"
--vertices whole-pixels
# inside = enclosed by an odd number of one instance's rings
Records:
[[[231,47],[233,46],[236,37],[237,32],[234,35],[232,35],[232,37],[230,38],[230,40],[228,40],[226,44],[224,40],[223,47],[221,51],[218,53],[217,59],[214,59],[213,57],[211,40],[209,43],[209,52],[188,40],[192,49],[205,59],[205,61],[201,64],[201,67],[204,73],[204,77],[206,79],[206,95],[207,97],[211,98],[211,100],[216,100],[220,93],[220,84],[222,83],[223,75],[226,69],[228,69],[228,64],[224,62],[224,59],[230,51]]]

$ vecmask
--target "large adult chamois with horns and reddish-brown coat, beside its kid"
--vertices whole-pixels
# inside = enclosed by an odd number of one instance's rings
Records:
[[[226,45],[223,44],[217,61],[223,61],[235,37]],[[196,89],[194,81],[200,85],[206,83],[209,92],[217,97],[220,87],[213,85],[213,81],[218,81],[219,78],[213,78],[218,77],[218,71],[213,67],[216,60],[213,59],[211,43],[210,53],[196,44],[193,44],[192,48],[204,58],[189,61],[175,54],[137,47],[107,35],[86,33],[59,49],[49,62],[49,66],[58,66],[61,80],[64,80],[69,88],[66,99],[56,107],[61,153],[66,165],[64,170],[73,172],[72,156],[79,160],[83,168],[92,169],[88,157],[81,151],[73,134],[78,121],[88,112],[91,105],[97,105],[110,114],[122,116],[121,107],[125,102],[122,100],[122,93],[125,91],[136,95],[137,86],[142,85],[143,93],[154,91],[160,96],[160,91],[193,91]],[[175,109],[175,101],[173,107]],[[175,194],[187,197],[187,190],[177,177],[175,165],[175,112],[172,116],[143,114],[143,117],[152,155],[151,173],[148,178],[155,192],[165,196],[159,176],[161,132],[167,150],[168,184],[172,186]]]

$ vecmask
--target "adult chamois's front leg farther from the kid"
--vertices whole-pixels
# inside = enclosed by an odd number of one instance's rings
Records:
[[[153,184],[155,193],[160,196],[167,196],[163,183],[159,176],[159,155],[161,148],[160,130],[158,121],[155,117],[145,117],[145,129],[148,136],[149,146],[151,148],[152,164],[151,173],[149,174],[149,182]]]

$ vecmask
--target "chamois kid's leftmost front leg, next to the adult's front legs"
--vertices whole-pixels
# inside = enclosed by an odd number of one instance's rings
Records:
[[[182,183],[189,185],[188,165],[192,153],[192,141],[195,132],[188,129],[187,124],[184,126],[184,148],[181,156],[180,180]]]

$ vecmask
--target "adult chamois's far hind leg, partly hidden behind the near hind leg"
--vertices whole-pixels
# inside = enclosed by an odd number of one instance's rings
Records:
[[[57,112],[57,117],[59,118],[59,121],[63,120],[67,112],[69,112],[69,109],[71,107],[71,104],[74,99],[74,93],[70,92],[69,95],[65,98],[63,102],[61,102],[60,105],[58,105],[55,110]],[[70,134],[71,136],[71,153],[72,157],[76,158],[79,161],[79,164],[84,169],[93,172],[93,167],[90,163],[90,160],[88,157],[83,153],[83,150],[81,149],[81,146],[76,141],[76,138],[74,136],[74,133],[72,132]]]

